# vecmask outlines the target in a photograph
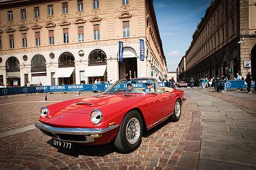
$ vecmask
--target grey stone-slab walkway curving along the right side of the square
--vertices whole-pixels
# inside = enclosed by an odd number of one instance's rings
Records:
[[[201,114],[198,169],[256,169],[256,94],[181,90]]]

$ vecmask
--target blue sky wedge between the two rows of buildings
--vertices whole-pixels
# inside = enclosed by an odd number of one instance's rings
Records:
[[[153,0],[168,71],[176,71],[211,0]]]

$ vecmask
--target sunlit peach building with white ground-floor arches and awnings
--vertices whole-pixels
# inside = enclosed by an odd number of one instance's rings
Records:
[[[0,81],[9,86],[167,75],[152,0],[1,1],[0,45]]]

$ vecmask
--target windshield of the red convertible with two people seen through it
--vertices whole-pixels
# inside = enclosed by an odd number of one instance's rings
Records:
[[[156,93],[154,79],[131,79],[116,81],[104,93]]]

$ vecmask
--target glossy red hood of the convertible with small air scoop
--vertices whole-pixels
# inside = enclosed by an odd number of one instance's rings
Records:
[[[151,95],[151,94],[149,94]],[[76,100],[75,102],[70,102],[63,106],[60,103],[52,104],[47,107],[49,109],[49,113],[45,118],[40,118],[41,122],[46,124],[52,124],[56,126],[91,126],[93,125],[90,122],[90,114],[94,109],[99,109],[103,111],[105,114],[111,114],[109,110],[116,111],[120,109],[124,109],[125,107],[129,107],[133,105],[133,103],[139,102],[143,100],[145,95],[143,94],[110,94],[110,95],[100,95],[96,97],[84,98],[82,100]],[[128,103],[129,106],[122,103]],[[132,102],[132,103],[131,103]],[[120,107],[123,105],[123,107]],[[54,110],[58,108],[57,110]],[[117,109],[118,108],[118,109]]]

